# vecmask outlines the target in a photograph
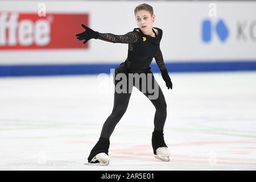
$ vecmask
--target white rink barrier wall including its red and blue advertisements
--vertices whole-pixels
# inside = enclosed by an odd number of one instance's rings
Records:
[[[160,48],[164,60],[256,59],[256,1],[148,2],[156,15],[154,27],[163,30]],[[5,30],[1,31],[0,65],[90,64],[99,60],[118,64],[126,58],[127,44],[89,40],[84,45],[75,35],[84,31],[82,23],[101,33],[133,31],[138,27],[134,8],[140,2],[45,1],[46,16],[40,16],[39,3],[0,1],[0,30]]]

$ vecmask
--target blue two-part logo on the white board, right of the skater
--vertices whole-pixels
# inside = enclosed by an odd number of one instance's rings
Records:
[[[202,24],[202,38],[204,42],[210,42],[210,40],[212,39],[213,30],[214,29],[212,28],[212,22],[210,20],[204,20]],[[225,42],[225,40],[229,36],[229,30],[223,20],[218,20],[215,30],[218,38],[220,38],[222,42]]]

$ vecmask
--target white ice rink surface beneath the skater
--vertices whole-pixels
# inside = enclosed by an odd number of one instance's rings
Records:
[[[2,77],[0,169],[256,169],[256,72],[171,73],[172,90],[154,75],[171,162],[154,158],[155,108],[135,87],[110,138],[109,166],[94,167],[84,163],[113,109],[111,76]]]

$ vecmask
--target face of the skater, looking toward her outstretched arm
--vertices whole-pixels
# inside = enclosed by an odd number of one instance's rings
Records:
[[[152,30],[153,22],[155,20],[155,14],[151,16],[149,11],[139,10],[135,13],[135,18],[136,18],[138,27],[143,32],[148,32]]]

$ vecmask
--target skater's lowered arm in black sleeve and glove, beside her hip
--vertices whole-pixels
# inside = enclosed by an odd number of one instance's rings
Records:
[[[155,55],[155,61],[158,64],[158,67],[161,71],[161,75],[163,77],[163,80],[166,82],[166,86],[168,89],[172,89],[172,81],[171,78],[168,74],[168,71],[166,69],[166,65],[164,65],[164,61],[163,61],[163,54],[161,49],[159,48],[158,53]]]

